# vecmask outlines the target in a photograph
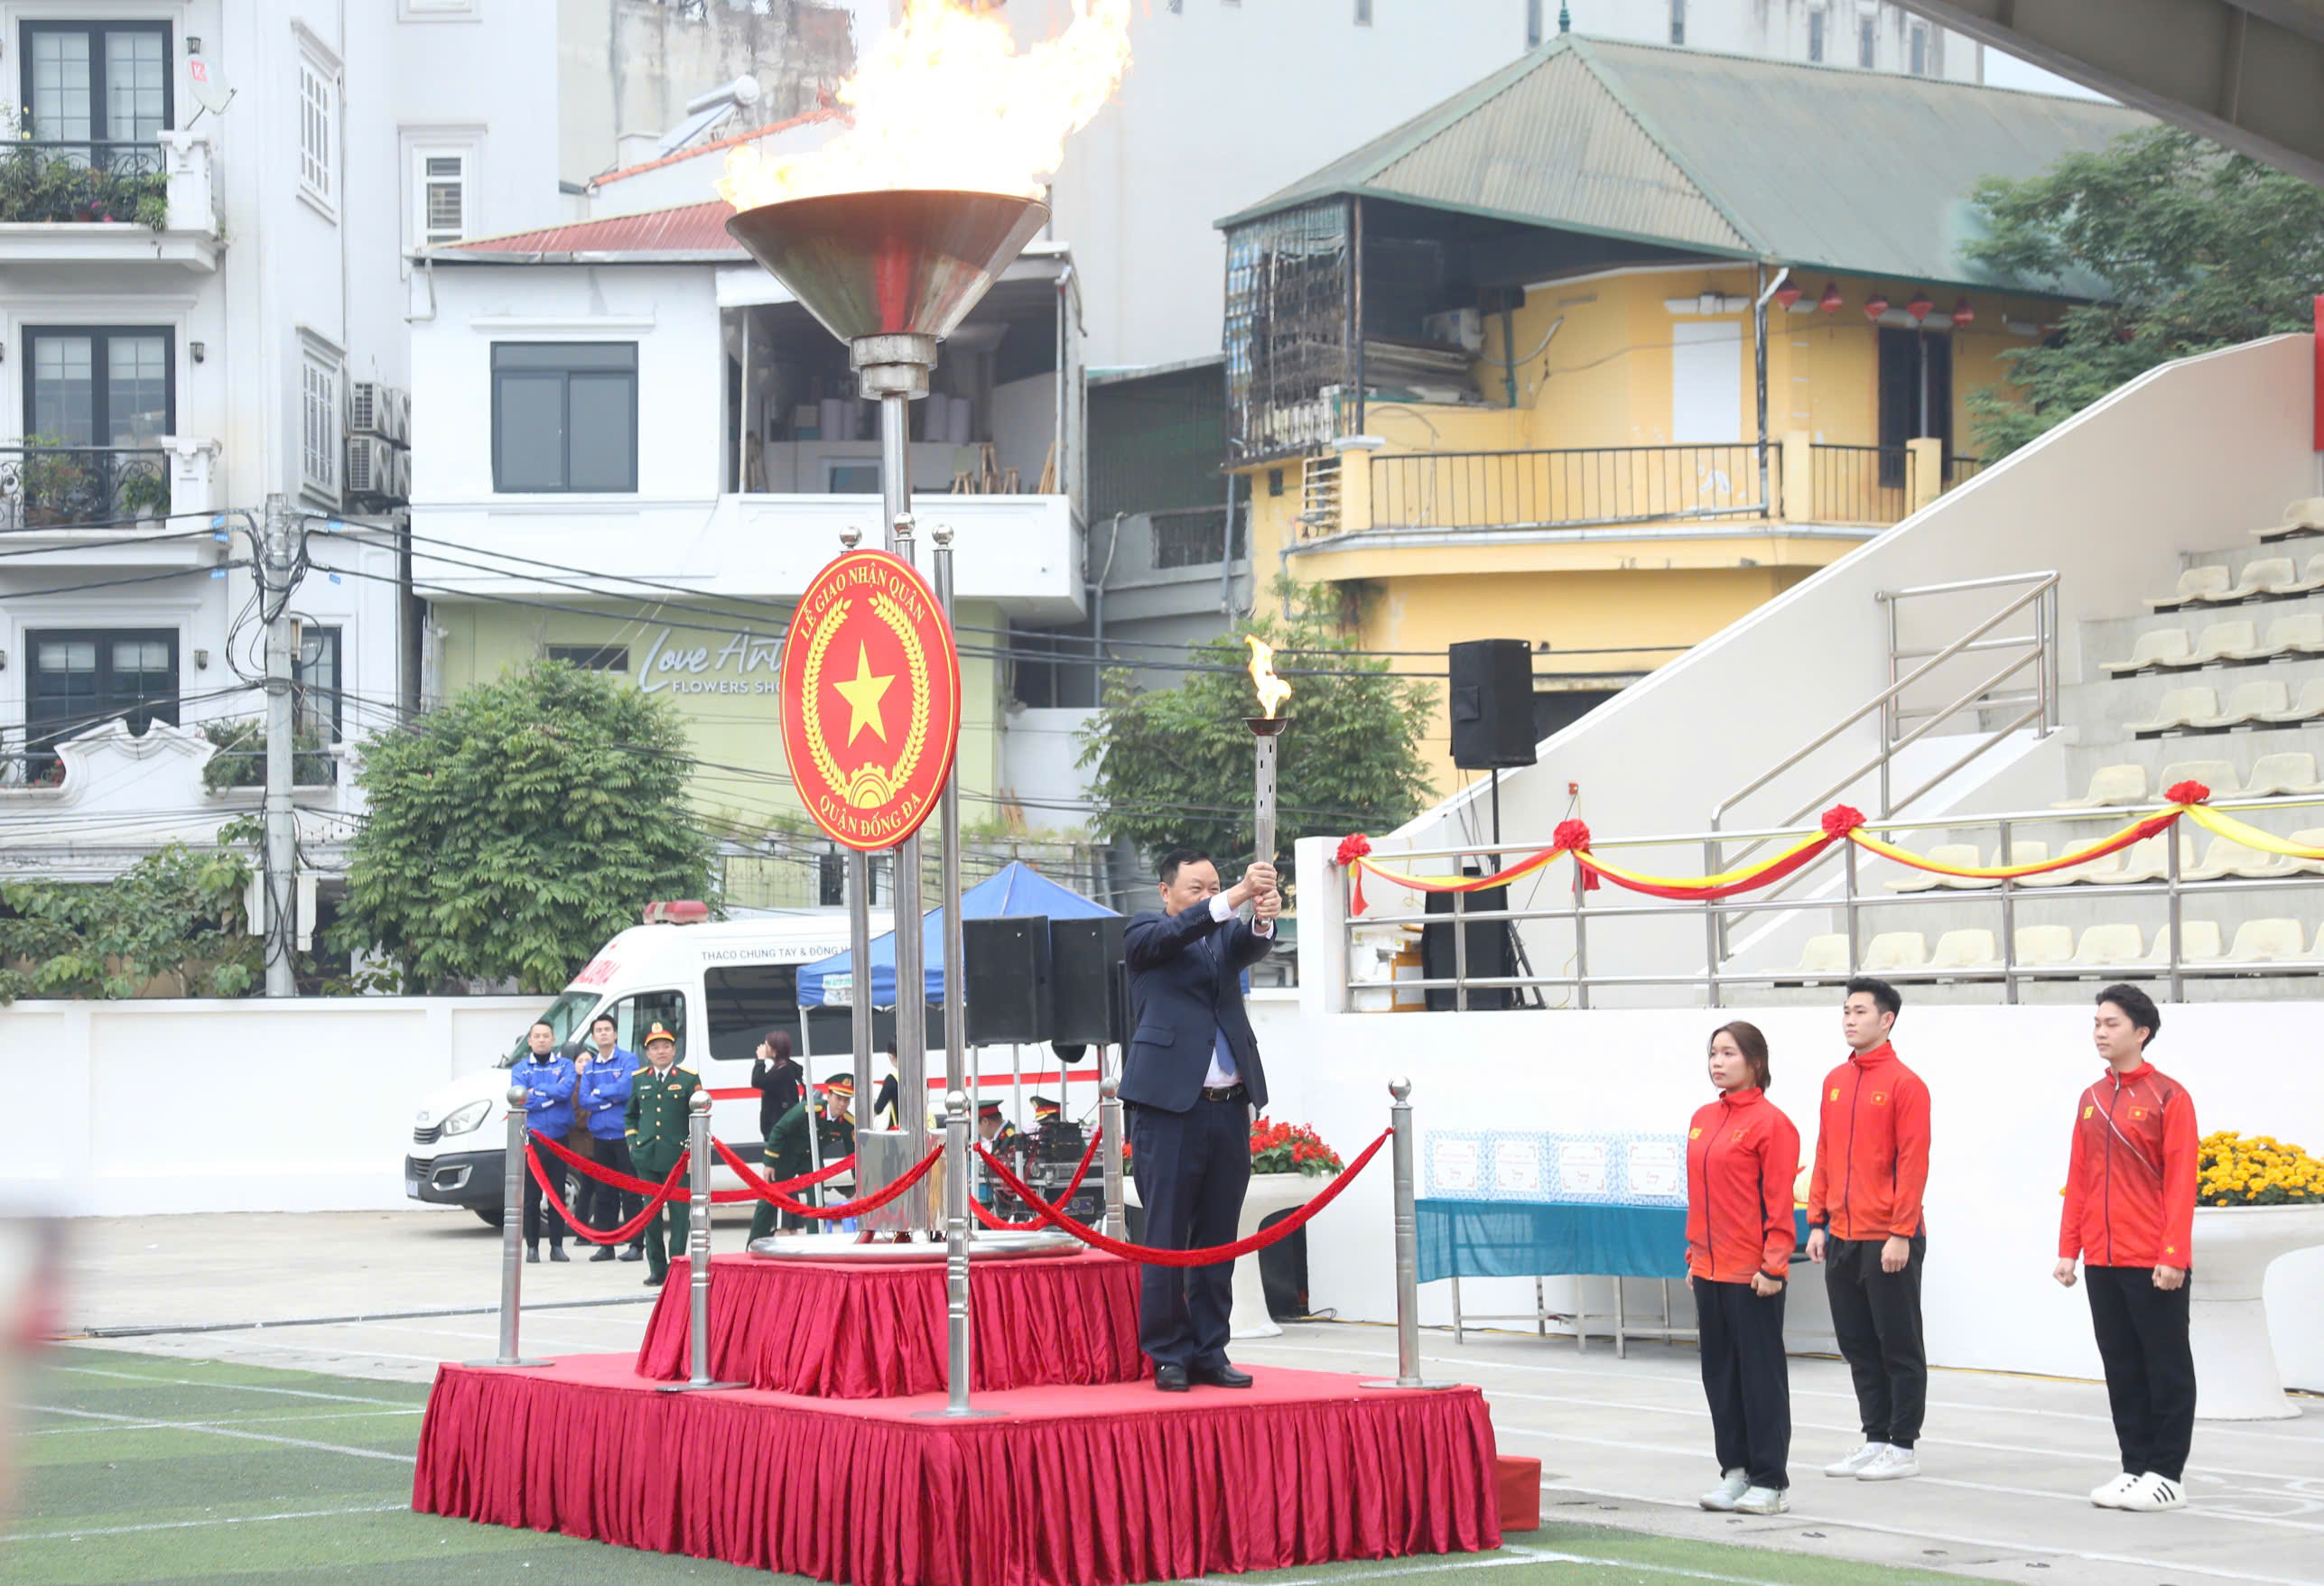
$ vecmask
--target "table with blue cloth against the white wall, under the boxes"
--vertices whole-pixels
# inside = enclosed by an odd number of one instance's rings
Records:
[[[1627,1356],[1631,1338],[1694,1338],[1692,1326],[1671,1324],[1671,1279],[1687,1275],[1687,1207],[1601,1205],[1578,1201],[1452,1201],[1413,1205],[1420,1231],[1420,1282],[1452,1279],[1452,1338],[1469,1321],[1532,1321],[1543,1335],[1550,1310],[1543,1277],[1576,1279],[1576,1312],[1569,1317],[1578,1349],[1590,1347],[1590,1321],[1613,1321],[1615,1356]],[[1808,1242],[1808,1214],[1792,1212],[1799,1242]],[[1532,1277],[1534,1312],[1525,1317],[1469,1317],[1462,1312],[1462,1277]],[[1613,1310],[1585,1310],[1580,1279],[1613,1282]],[[1662,1282],[1662,1321],[1631,1324],[1622,1300],[1624,1277]]]

